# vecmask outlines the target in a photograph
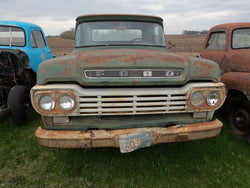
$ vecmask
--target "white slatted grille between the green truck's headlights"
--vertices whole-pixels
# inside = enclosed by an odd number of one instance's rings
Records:
[[[118,90],[118,91],[117,91]],[[86,91],[86,90],[85,90]],[[106,89],[79,97],[81,115],[164,114],[187,111],[187,95],[177,89]],[[178,90],[180,92],[180,90]]]

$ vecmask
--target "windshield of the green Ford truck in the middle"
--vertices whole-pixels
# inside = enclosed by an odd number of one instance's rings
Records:
[[[110,45],[164,46],[160,24],[149,22],[84,22],[76,29],[76,47]]]

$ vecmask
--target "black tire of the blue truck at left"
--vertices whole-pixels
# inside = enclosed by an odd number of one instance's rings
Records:
[[[7,104],[11,111],[13,123],[16,125],[24,124],[32,111],[28,88],[25,86],[11,88]]]

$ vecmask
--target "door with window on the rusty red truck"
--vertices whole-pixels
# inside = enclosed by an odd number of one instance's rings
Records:
[[[221,65],[227,52],[227,31],[215,30],[211,32],[201,51],[202,58],[210,59]]]

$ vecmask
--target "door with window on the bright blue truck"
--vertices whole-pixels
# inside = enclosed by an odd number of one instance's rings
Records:
[[[36,72],[39,64],[42,61],[53,58],[53,55],[40,30],[34,29],[31,31],[31,47],[32,55],[30,57],[30,66]]]

